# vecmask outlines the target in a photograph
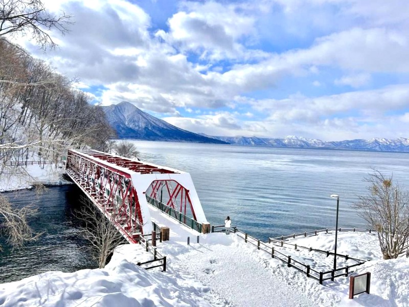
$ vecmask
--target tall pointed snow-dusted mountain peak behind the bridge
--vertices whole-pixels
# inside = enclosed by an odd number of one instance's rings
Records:
[[[127,101],[103,106],[103,110],[120,139],[226,144],[224,141],[175,127]]]

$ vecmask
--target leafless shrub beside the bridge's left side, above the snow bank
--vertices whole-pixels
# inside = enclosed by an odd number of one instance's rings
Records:
[[[79,218],[84,222],[82,235],[90,243],[90,252],[102,269],[113,250],[125,240],[115,227],[117,214],[109,214],[110,218],[107,218],[89,200],[82,200],[82,204],[84,207],[79,212]]]

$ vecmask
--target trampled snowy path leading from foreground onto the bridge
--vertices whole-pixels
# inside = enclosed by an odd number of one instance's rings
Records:
[[[161,247],[165,254],[172,254],[170,268],[177,268],[192,275],[211,289],[208,298],[214,306],[313,306],[305,292],[292,289],[291,280],[277,274],[285,266],[274,259],[263,257],[261,251],[245,244],[235,234],[212,233],[200,235],[181,226],[177,221],[151,208],[153,220],[160,224],[171,222],[171,239]],[[187,246],[187,236],[191,245]],[[295,270],[292,270],[292,275]],[[283,273],[285,274],[285,273]]]

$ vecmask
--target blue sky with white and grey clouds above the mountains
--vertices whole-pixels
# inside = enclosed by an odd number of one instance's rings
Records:
[[[409,137],[406,0],[44,0],[73,15],[46,52],[102,105],[195,133]]]

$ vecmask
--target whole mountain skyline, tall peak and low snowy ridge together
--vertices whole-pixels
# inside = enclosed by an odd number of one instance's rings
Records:
[[[325,142],[288,136],[283,139],[258,137],[215,137],[196,134],[175,127],[162,119],[158,119],[141,111],[133,104],[123,101],[119,104],[103,106],[107,119],[120,139],[138,139],[149,141],[173,141],[194,143],[234,144],[243,146],[268,146],[287,148],[333,148],[382,151],[409,151],[409,139],[397,138],[347,140]]]

